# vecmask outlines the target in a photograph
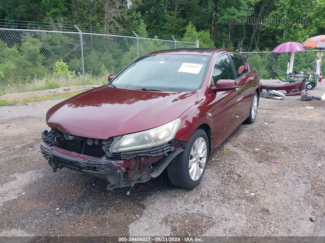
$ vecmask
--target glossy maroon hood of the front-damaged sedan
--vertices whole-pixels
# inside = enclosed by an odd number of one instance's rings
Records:
[[[101,86],[48,110],[51,128],[75,136],[107,139],[158,127],[197,102],[197,92],[156,92]]]

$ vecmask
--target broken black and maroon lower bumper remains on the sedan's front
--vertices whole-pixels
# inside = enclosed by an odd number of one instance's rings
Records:
[[[132,187],[135,183],[146,182],[159,176],[168,163],[184,150],[177,145],[174,151],[157,157],[134,157],[128,160],[106,159],[50,146],[41,142],[41,152],[53,172],[63,167],[82,172],[91,176],[108,180],[107,189]],[[172,146],[174,148],[174,144]],[[154,164],[152,164],[154,163]],[[152,164],[152,165],[151,165]]]

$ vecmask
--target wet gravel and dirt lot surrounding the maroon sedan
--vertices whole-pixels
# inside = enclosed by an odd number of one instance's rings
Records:
[[[324,101],[261,98],[257,120],[213,152],[198,187],[178,188],[163,173],[130,195],[66,168],[53,173],[39,143],[58,102],[0,107],[0,236],[325,236]]]

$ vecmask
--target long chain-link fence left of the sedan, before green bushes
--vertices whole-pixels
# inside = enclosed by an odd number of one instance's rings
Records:
[[[78,30],[78,31],[77,31]],[[198,43],[134,36],[0,28],[0,95],[102,85],[138,56]]]

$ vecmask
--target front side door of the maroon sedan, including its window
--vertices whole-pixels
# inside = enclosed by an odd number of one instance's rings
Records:
[[[233,66],[228,54],[217,57],[212,71],[210,89],[220,79],[235,79]],[[210,109],[214,118],[214,145],[219,144],[237,125],[240,115],[241,91],[218,91],[210,93],[213,107]]]

